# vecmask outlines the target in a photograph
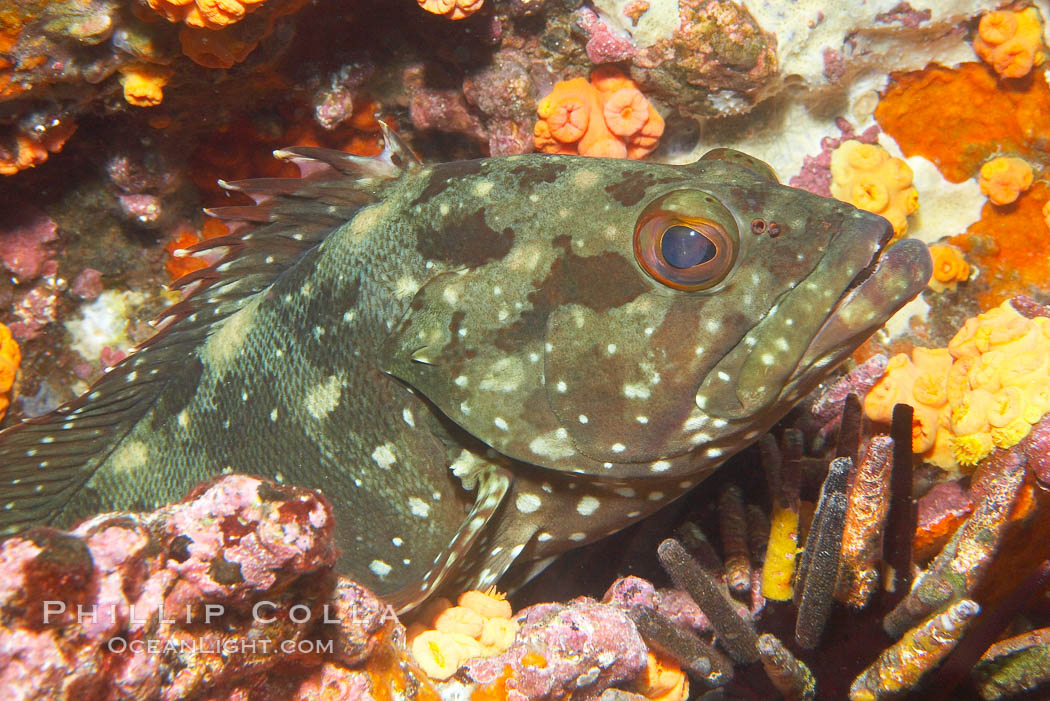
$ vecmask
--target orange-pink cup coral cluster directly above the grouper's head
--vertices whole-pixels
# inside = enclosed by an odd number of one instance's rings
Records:
[[[573,78],[554,85],[537,105],[536,148],[609,158],[643,158],[664,134],[664,119],[634,81],[612,67],[590,83]]]

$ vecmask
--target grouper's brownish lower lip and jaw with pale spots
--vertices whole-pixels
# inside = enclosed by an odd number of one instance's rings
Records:
[[[905,238],[885,247],[883,240],[828,312],[792,379],[845,358],[925,290],[932,273],[933,261],[922,241]]]

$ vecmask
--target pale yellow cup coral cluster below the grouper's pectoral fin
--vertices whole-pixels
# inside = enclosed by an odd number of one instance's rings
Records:
[[[408,628],[412,654],[433,679],[448,679],[468,659],[499,655],[518,635],[510,602],[501,594],[469,591],[458,603],[436,599],[421,616],[433,628],[422,621]]]

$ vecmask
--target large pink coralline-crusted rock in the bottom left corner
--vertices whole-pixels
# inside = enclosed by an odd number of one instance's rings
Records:
[[[332,574],[332,527],[316,492],[230,475],[151,514],[6,540],[0,698],[369,698],[349,667],[403,629]]]

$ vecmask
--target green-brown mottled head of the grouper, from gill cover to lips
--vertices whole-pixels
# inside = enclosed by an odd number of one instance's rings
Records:
[[[453,186],[420,203],[427,246],[450,228],[476,264],[420,289],[385,369],[546,468],[626,479],[721,462],[931,270],[922,243],[886,249],[883,217],[782,186],[737,151],[484,163],[457,183],[483,207]]]

